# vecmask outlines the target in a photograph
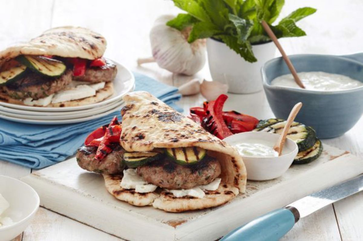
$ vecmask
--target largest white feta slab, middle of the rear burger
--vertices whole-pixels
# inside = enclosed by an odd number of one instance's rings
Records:
[[[94,96],[96,90],[88,85],[77,85],[72,89],[64,89],[54,94],[52,103],[59,103],[64,101],[79,100],[86,97]]]

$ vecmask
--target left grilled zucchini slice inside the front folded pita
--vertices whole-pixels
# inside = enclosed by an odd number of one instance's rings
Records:
[[[123,153],[123,161],[127,167],[136,168],[150,161],[155,161],[162,155],[162,152],[125,152]]]

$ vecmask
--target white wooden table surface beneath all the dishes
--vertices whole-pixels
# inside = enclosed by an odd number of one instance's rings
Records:
[[[138,57],[151,55],[148,32],[161,14],[180,12],[168,0],[12,0],[1,1],[0,48],[27,40],[55,26],[78,25],[103,34],[108,42],[105,56],[164,83],[179,86],[194,77],[178,76],[156,64],[136,66]],[[282,16],[298,7],[318,9],[299,22],[307,37],[281,40],[287,54],[351,54],[363,52],[363,2],[361,0],[286,0]],[[276,56],[278,54],[276,53]],[[210,79],[208,66],[197,77]],[[227,110],[237,110],[257,118],[272,112],[263,92],[229,95]],[[179,105],[185,114],[200,106],[200,95],[183,97]],[[363,101],[363,100],[362,100]],[[345,135],[323,143],[363,157],[363,118]],[[1,147],[0,147],[1,148]],[[32,170],[0,161],[0,174],[20,178]],[[298,187],[297,187],[298,188]],[[243,212],[243,210],[240,210]],[[221,220],[223,221],[223,220]],[[16,240],[119,240],[117,237],[40,208],[32,224]],[[300,220],[283,240],[363,240],[363,193],[353,195]]]

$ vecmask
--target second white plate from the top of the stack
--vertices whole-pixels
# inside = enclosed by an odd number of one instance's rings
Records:
[[[85,110],[74,110],[74,111],[58,111],[58,112],[52,112],[52,111],[30,111],[30,110],[18,110],[13,108],[8,108],[5,106],[0,106],[0,112],[5,112],[3,114],[8,115],[9,113],[12,114],[19,114],[19,115],[36,115],[36,116],[66,116],[66,115],[72,115],[72,114],[86,114],[90,111],[96,111],[99,110],[99,113],[103,112],[103,109],[106,109],[110,106],[115,107],[116,105],[121,105],[122,100],[117,100],[114,102],[107,103],[106,105],[94,107],[91,109],[85,109]],[[97,114],[97,113],[94,113]]]

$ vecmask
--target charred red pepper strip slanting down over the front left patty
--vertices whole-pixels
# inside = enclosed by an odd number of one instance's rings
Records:
[[[107,154],[112,151],[112,149],[109,147],[109,144],[112,142],[118,142],[118,140],[120,139],[120,135],[121,126],[118,125],[117,117],[115,116],[106,129],[106,133],[98,146],[95,158],[99,161],[105,158]]]

